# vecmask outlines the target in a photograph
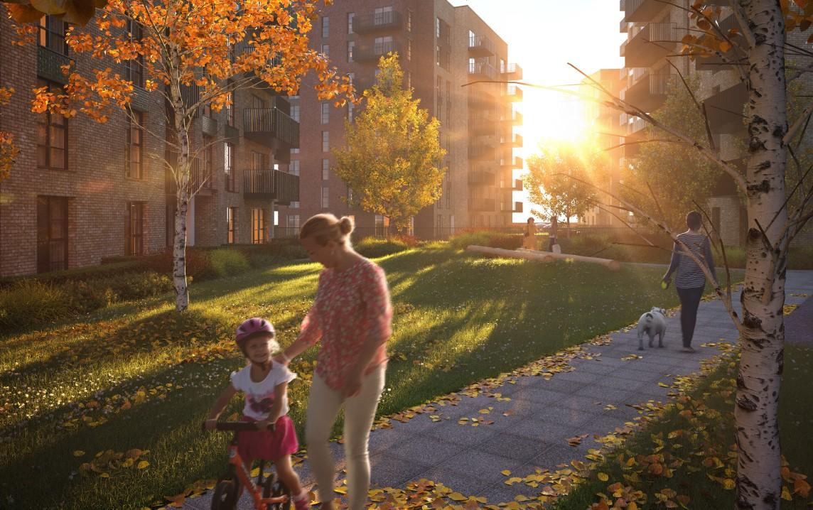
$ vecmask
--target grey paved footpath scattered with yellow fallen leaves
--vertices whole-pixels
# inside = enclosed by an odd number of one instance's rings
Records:
[[[786,304],[802,305],[794,312],[799,317],[791,315],[789,319],[809,324],[813,298],[807,296],[813,296],[813,271],[789,270],[786,290]],[[739,308],[736,294],[735,301]],[[813,342],[809,328],[797,327],[793,335],[808,338],[789,335],[791,342]],[[512,378],[515,383],[493,390],[501,393],[502,399],[483,394],[462,396],[457,405],[436,406],[437,412],[373,430],[372,486],[402,488],[406,482],[427,478],[463,495],[483,496],[489,504],[512,501],[520,494],[535,495],[537,490],[521,483],[506,486],[506,476],[500,472],[508,469],[511,476],[524,477],[537,467],[554,471],[557,465],[582,459],[589,448],[600,447],[593,434],[608,434],[637,417],[639,413],[629,405],[667,399],[670,389],[659,382],[669,386],[675,376],[698,371],[702,360],[720,352],[701,345],[721,340],[734,343],[737,330],[722,302],[711,300],[703,301],[698,311],[693,339],[698,352],[680,352],[679,314],[667,318],[666,346],[662,349],[637,351],[634,330],[615,331],[610,336],[608,344],[586,346],[593,357],[573,359],[570,365],[575,370],[550,379],[530,375]],[[641,358],[622,360],[631,354]],[[480,413],[489,408],[489,413]],[[440,421],[433,421],[430,414]],[[471,426],[471,418],[480,416],[493,423]],[[462,417],[469,418],[466,425],[459,424]],[[578,446],[569,446],[567,439],[578,434],[590,435]],[[333,450],[341,476],[341,445],[333,443]],[[313,483],[307,463],[300,465],[298,472],[303,482]],[[185,508],[209,508],[210,498],[211,491],[201,498],[187,499]],[[253,507],[244,496],[238,508]]]

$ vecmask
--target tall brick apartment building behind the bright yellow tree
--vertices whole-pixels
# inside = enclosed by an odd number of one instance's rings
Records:
[[[381,55],[397,51],[406,86],[420,106],[441,122],[446,149],[442,196],[414,218],[419,237],[445,236],[458,227],[511,224],[521,212],[513,192],[522,160],[512,149],[522,145],[513,127],[522,115],[513,108],[522,90],[506,84],[463,84],[475,80],[516,80],[522,69],[507,62],[507,45],[468,6],[446,0],[344,0],[328,6],[315,21],[311,43],[348,73],[356,89],[374,83]],[[300,201],[280,208],[280,227],[295,231],[311,214],[352,215],[362,233],[384,230],[387,219],[351,210],[346,185],[332,171],[330,149],[344,144],[344,121],[359,108],[334,108],[320,102],[312,88],[290,97],[294,119],[302,126],[290,172],[302,183]],[[362,106],[363,107],[363,106]]]

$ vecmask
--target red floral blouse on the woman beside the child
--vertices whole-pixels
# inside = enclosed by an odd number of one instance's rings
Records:
[[[367,339],[376,339],[379,347],[364,374],[387,361],[392,319],[384,270],[363,259],[346,270],[322,270],[316,299],[302,321],[299,339],[309,346],[322,341],[316,374],[338,390],[354,369]]]

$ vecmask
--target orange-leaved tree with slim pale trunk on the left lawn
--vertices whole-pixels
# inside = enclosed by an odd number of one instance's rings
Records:
[[[326,0],[330,2],[330,0]],[[166,143],[177,154],[167,167],[176,181],[175,239],[172,246],[176,309],[189,306],[186,285],[186,215],[193,188],[190,128],[204,106],[219,111],[234,93],[258,84],[295,94],[309,71],[322,99],[350,94],[346,77],[308,47],[307,32],[318,0],[113,0],[85,28],[67,30],[76,57],[63,67],[63,91],[35,89],[33,110],[66,116],[81,112],[98,122],[112,110],[131,112],[133,83],[111,64],[136,67],[144,88],[161,94],[168,106]],[[33,34],[36,27],[20,28]],[[76,61],[82,60],[81,67]],[[143,93],[143,92],[142,92]],[[344,99],[337,99],[343,102]],[[137,119],[131,115],[137,124]],[[163,133],[159,136],[164,140]]]

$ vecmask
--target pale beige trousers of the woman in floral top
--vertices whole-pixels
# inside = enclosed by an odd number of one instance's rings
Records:
[[[333,498],[336,465],[328,439],[339,409],[345,408],[345,457],[347,460],[347,498],[350,510],[363,510],[370,488],[370,455],[367,441],[376,418],[376,408],[384,390],[386,365],[380,365],[364,378],[359,395],[345,399],[341,391],[328,387],[314,374],[307,404],[305,438],[307,457],[322,501]]]

